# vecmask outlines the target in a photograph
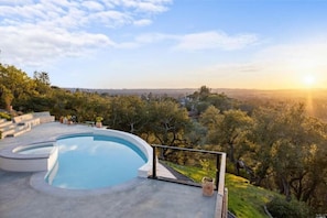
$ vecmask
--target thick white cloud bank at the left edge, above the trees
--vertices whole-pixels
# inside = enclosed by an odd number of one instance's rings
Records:
[[[35,67],[61,57],[85,55],[100,45],[115,44],[102,34],[68,32],[59,28],[48,30],[34,24],[0,26],[0,47],[6,59]]]

